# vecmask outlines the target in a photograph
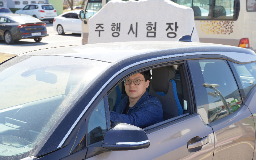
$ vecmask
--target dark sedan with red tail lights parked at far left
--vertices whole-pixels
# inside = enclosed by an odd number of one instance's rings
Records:
[[[0,15],[0,40],[7,44],[13,44],[20,39],[40,42],[46,36],[46,23],[37,18],[25,14]]]

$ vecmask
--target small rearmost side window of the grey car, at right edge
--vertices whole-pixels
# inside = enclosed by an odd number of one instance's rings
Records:
[[[230,62],[232,69],[235,72],[242,98],[246,99],[251,90],[255,87],[256,83],[256,63],[237,64]]]

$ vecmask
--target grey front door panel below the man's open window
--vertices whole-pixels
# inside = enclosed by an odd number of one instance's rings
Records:
[[[210,126],[202,121],[200,115],[194,114],[172,122],[165,128],[148,134],[150,147],[141,150],[104,152],[89,158],[99,160],[107,159],[213,159],[214,136]],[[209,143],[202,146],[201,150],[189,152],[187,143],[193,137],[209,136]]]

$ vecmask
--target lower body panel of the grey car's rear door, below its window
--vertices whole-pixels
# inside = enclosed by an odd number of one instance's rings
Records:
[[[255,126],[247,106],[242,105],[234,115],[209,125],[212,126],[215,137],[213,160],[252,159],[255,147]]]

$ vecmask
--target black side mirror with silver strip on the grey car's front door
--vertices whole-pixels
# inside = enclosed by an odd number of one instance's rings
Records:
[[[148,136],[143,129],[119,123],[106,132],[102,147],[111,151],[126,151],[148,148],[149,145]]]

